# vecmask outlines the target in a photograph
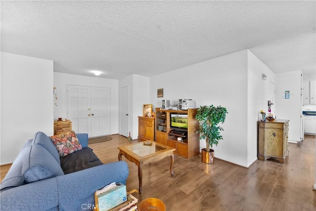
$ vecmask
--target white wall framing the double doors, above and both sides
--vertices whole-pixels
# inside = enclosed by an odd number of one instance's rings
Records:
[[[118,133],[118,80],[54,72],[54,119],[67,117],[67,85],[109,87],[111,89],[111,134]]]

